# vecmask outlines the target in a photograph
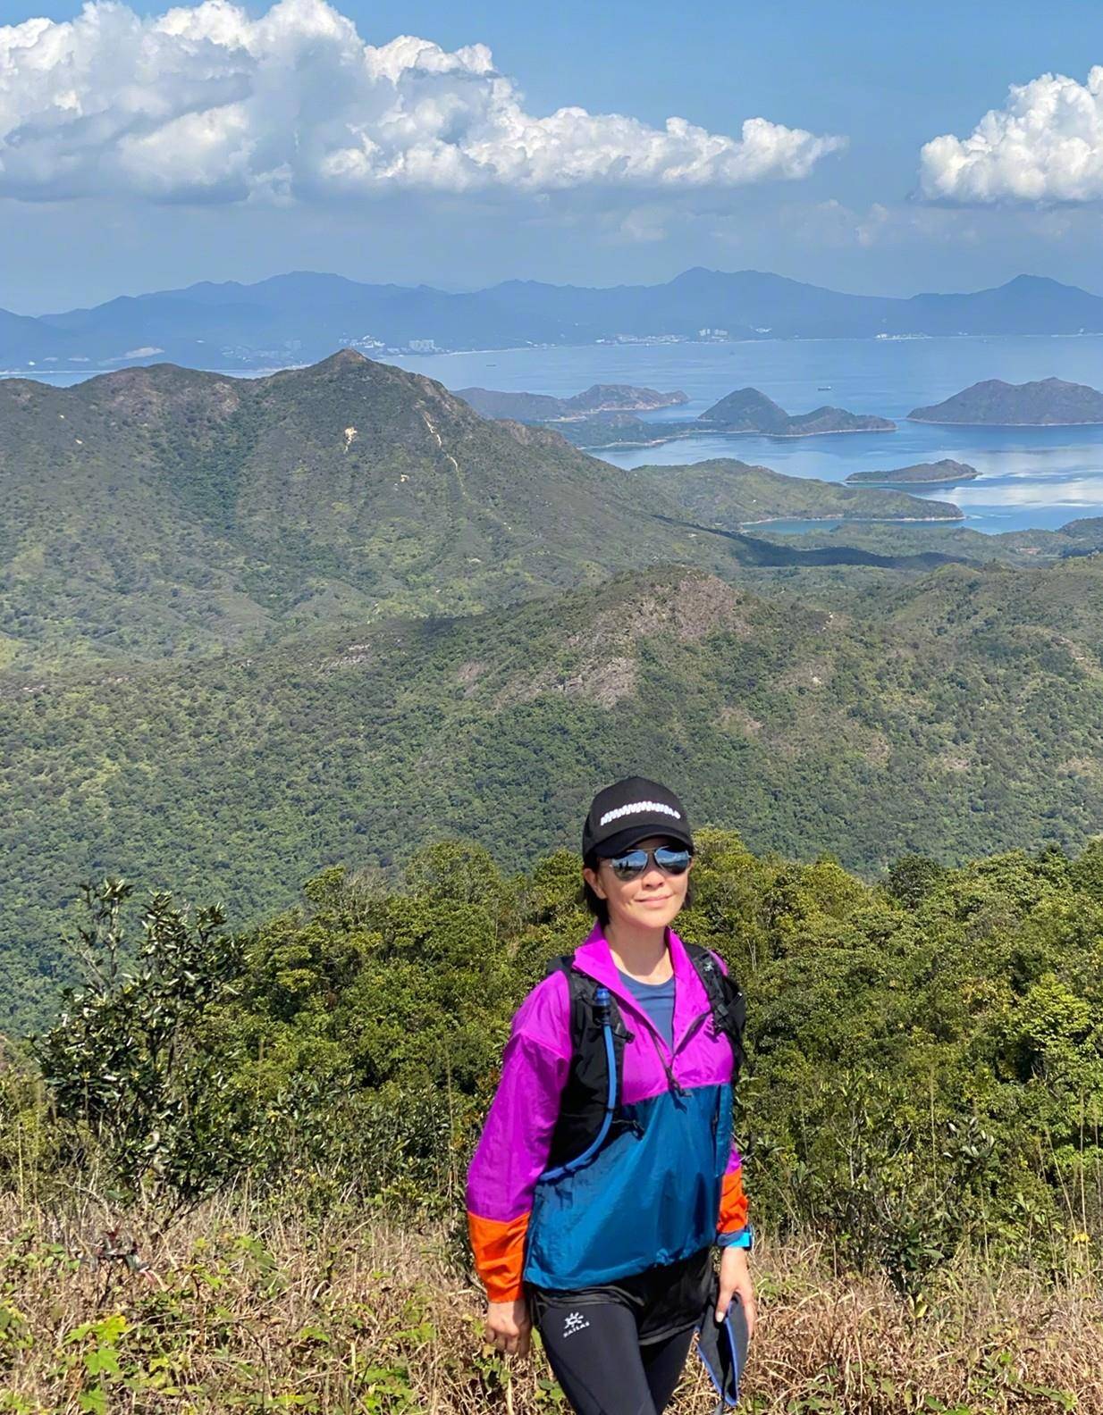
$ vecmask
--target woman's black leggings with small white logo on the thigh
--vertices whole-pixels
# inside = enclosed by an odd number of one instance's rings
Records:
[[[619,1302],[547,1303],[539,1334],[555,1378],[578,1415],[661,1415],[674,1394],[692,1327],[640,1346],[636,1317]]]

